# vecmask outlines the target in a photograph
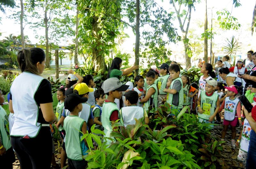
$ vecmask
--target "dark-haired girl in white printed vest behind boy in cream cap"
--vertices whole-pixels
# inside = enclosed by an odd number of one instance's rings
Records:
[[[204,91],[205,87],[205,80],[210,80],[212,78],[215,78],[215,73],[212,71],[212,65],[210,63],[205,63],[201,67],[201,73],[204,74],[199,79],[199,91],[198,91],[198,97],[200,96],[200,93]]]

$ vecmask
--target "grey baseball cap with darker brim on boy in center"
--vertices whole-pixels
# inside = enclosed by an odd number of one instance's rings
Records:
[[[129,88],[128,85],[123,85],[119,79],[116,77],[109,78],[105,80],[101,86],[101,88],[104,90],[104,93],[108,93],[113,90],[117,91],[125,91]]]

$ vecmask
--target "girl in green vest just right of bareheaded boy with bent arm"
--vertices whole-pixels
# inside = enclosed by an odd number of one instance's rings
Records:
[[[198,90],[196,88],[193,88],[190,86],[190,80],[187,75],[181,76],[182,84],[183,84],[183,93],[184,93],[184,103],[183,106],[189,106],[191,98],[194,97],[198,93]]]

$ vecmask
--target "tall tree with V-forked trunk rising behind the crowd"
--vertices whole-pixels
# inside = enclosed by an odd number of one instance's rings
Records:
[[[183,40],[183,45],[184,45],[184,50],[185,50],[185,59],[186,59],[186,69],[188,69],[191,66],[191,51],[189,48],[189,44],[188,44],[188,28],[189,28],[189,24],[190,24],[190,19],[191,19],[191,9],[193,7],[193,3],[191,4],[191,2],[187,2],[185,1],[185,6],[187,7],[187,11],[183,10],[180,11],[181,5],[183,4],[182,1],[174,1],[171,0],[170,1],[174,7],[174,10],[176,12],[179,24],[180,24],[180,30],[182,32],[182,40]],[[175,2],[178,2],[179,8],[177,9]],[[185,14],[185,15],[184,15]],[[183,20],[181,20],[183,19]],[[187,21],[187,25],[185,25]]]

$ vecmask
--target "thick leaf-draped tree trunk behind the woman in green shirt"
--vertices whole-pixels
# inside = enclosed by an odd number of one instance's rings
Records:
[[[98,18],[97,17],[93,17],[92,20],[92,25],[93,26],[93,30],[92,30],[92,34],[93,37],[95,38],[95,42],[93,42],[92,44],[92,60],[93,60],[93,67],[94,67],[94,71],[98,72],[100,69],[102,69],[102,72],[105,72],[106,67],[105,67],[105,57],[104,54],[102,52],[102,49],[100,48],[100,39],[102,37],[102,35],[99,33],[100,28],[98,25]]]

